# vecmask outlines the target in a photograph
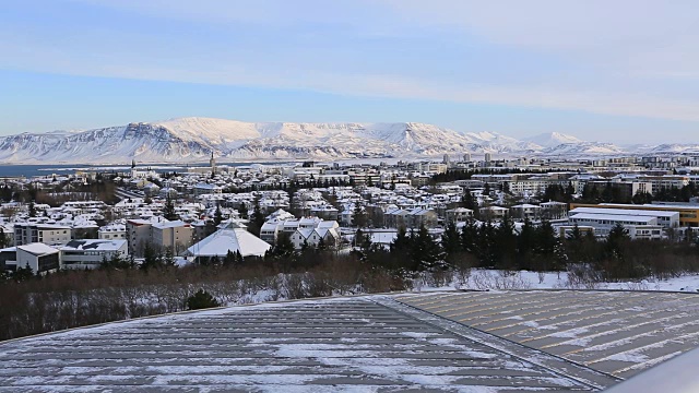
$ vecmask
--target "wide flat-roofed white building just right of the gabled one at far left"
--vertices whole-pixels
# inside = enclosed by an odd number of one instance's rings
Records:
[[[67,269],[96,269],[104,260],[129,254],[126,240],[71,240],[60,251],[61,265]]]

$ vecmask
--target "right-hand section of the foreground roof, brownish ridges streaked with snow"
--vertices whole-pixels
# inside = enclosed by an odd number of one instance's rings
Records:
[[[621,379],[699,347],[699,294],[453,291],[396,300]]]

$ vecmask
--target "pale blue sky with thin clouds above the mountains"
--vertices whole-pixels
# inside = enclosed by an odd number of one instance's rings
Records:
[[[699,143],[696,0],[3,0],[0,134],[201,116]]]

